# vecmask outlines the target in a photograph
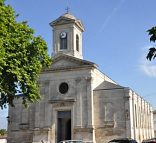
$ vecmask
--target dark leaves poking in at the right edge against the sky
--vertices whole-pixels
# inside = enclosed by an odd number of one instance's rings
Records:
[[[154,42],[155,43],[155,41],[156,41],[156,26],[152,27],[147,32],[148,32],[148,35],[150,36],[150,42]],[[148,52],[146,58],[151,61],[152,59],[155,59],[155,57],[156,57],[156,48],[155,47],[151,47],[149,49],[149,52]]]

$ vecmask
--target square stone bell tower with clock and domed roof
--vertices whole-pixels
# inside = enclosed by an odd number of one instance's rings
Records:
[[[67,54],[82,59],[83,25],[69,12],[50,23],[53,28],[52,56]]]

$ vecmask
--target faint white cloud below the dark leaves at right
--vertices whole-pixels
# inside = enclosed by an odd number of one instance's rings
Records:
[[[151,45],[145,46],[142,49],[143,54],[139,61],[139,68],[145,75],[150,77],[156,77],[156,59],[153,61],[148,61],[146,59],[146,54],[148,53],[148,49],[150,47]]]

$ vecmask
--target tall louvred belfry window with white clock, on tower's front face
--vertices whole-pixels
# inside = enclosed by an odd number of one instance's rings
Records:
[[[67,34],[65,32],[60,35],[60,49],[67,49]]]

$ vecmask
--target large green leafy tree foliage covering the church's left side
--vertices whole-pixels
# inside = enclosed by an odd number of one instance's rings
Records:
[[[26,22],[17,22],[13,8],[0,0],[0,107],[14,106],[22,94],[23,104],[40,99],[37,84],[43,67],[51,63],[47,45]]]

